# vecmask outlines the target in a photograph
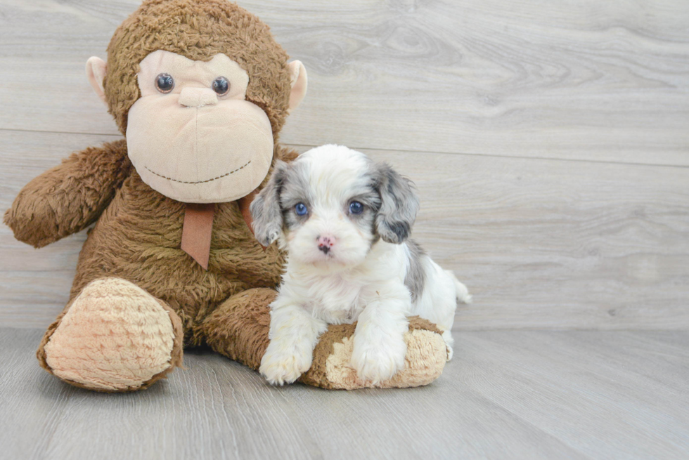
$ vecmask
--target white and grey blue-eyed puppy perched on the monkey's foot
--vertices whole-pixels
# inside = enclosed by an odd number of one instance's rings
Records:
[[[259,242],[288,251],[271,304],[270,345],[259,371],[273,385],[297,380],[328,324],[358,321],[352,367],[373,384],[404,368],[408,315],[450,334],[467,288],[408,239],[419,200],[412,184],[361,152],[323,145],[278,162],[250,206]]]

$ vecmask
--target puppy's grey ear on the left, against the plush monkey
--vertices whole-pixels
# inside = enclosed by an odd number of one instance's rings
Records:
[[[287,167],[287,164],[281,160],[275,162],[273,175],[249,206],[254,235],[266,247],[278,239],[282,231],[283,213],[280,209],[280,191],[285,181]]]

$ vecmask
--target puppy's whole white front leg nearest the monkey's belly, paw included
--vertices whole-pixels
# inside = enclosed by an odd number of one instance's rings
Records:
[[[318,336],[328,324],[278,296],[271,311],[271,342],[259,372],[273,385],[292,383],[309,370]]]

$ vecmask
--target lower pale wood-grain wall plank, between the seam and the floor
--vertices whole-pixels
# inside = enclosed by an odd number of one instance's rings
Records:
[[[112,139],[0,131],[0,209],[59,157]],[[365,151],[416,182],[414,237],[474,294],[455,329],[689,328],[689,169]],[[83,242],[35,250],[2,226],[0,321],[47,326]]]

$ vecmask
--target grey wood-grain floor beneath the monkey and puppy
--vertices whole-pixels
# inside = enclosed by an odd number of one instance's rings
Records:
[[[430,386],[273,388],[210,351],[146,391],[91,393],[0,329],[0,459],[685,459],[689,334],[457,336]]]

